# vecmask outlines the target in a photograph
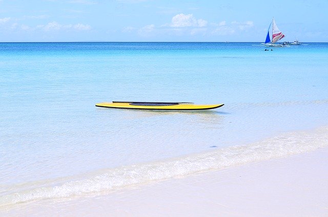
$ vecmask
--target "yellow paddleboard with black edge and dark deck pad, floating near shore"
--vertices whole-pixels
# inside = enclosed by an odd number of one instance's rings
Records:
[[[206,110],[215,109],[224,104],[195,105],[193,103],[152,103],[152,102],[111,102],[97,103],[97,107],[146,110]]]

